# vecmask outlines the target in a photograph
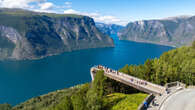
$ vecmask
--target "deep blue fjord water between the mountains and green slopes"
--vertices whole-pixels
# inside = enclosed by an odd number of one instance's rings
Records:
[[[80,50],[34,61],[0,62],[0,103],[16,105],[57,89],[90,82],[93,65],[119,69],[125,64],[143,64],[172,49],[112,37],[115,48]]]

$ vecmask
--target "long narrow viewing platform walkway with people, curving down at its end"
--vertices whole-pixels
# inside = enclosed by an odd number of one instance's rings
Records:
[[[166,88],[157,84],[153,84],[151,82],[136,78],[131,75],[127,75],[125,73],[119,72],[117,70],[113,70],[111,68],[107,68],[105,66],[94,66],[91,68],[91,78],[94,80],[95,74],[97,73],[98,70],[103,70],[104,75],[119,81],[123,84],[129,85],[133,88],[136,88],[140,91],[149,93],[149,94],[155,94],[155,95],[161,95],[165,92]]]

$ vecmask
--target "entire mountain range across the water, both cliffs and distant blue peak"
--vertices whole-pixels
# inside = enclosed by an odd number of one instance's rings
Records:
[[[0,9],[0,59],[39,59],[73,50],[113,47],[120,40],[179,47],[195,40],[195,16],[130,22],[126,27],[95,23],[87,16]]]

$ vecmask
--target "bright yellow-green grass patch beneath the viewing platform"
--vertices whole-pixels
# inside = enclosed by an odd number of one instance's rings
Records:
[[[114,93],[104,97],[105,110],[137,110],[138,106],[147,97],[147,94]]]

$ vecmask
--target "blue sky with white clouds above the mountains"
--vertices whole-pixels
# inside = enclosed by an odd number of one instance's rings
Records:
[[[96,22],[128,22],[195,15],[195,0],[0,0],[0,7],[79,14]]]

